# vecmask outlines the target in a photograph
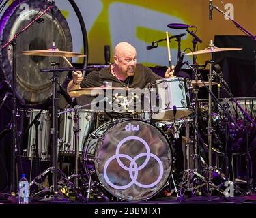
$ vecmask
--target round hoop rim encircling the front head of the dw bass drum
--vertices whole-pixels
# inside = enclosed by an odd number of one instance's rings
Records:
[[[119,123],[123,123],[124,121],[141,121],[142,123],[147,123],[152,125],[154,128],[158,129],[158,131],[160,132],[160,134],[162,134],[162,136],[165,138],[165,140],[167,140],[167,144],[169,145],[169,149],[171,151],[171,168],[170,168],[170,172],[169,175],[167,176],[167,179],[165,181],[165,183],[163,185],[161,185],[158,189],[158,191],[155,191],[154,193],[152,193],[150,196],[147,196],[146,198],[140,198],[140,199],[136,199],[136,200],[129,200],[126,198],[121,198],[120,196],[115,195],[115,193],[111,193],[111,191],[109,191],[108,189],[106,189],[106,187],[104,187],[104,185],[102,184],[101,179],[99,178],[98,174],[96,173],[96,168],[95,168],[95,162],[92,163],[92,165],[94,166],[94,170],[95,170],[95,176],[98,179],[98,182],[100,183],[100,186],[107,191],[111,196],[118,198],[119,200],[124,200],[124,201],[130,201],[130,202],[137,202],[137,201],[141,201],[141,200],[148,200],[150,198],[154,198],[154,196],[156,196],[158,193],[160,193],[160,191],[162,191],[162,189],[164,189],[167,186],[167,182],[169,181],[169,179],[171,178],[171,174],[173,173],[173,167],[174,167],[174,163],[175,163],[175,157],[174,157],[174,149],[173,149],[173,145],[171,144],[171,141],[169,140],[169,138],[167,137],[167,135],[162,131],[162,129],[160,129],[159,127],[157,127],[156,125],[154,125],[154,123],[150,123],[149,121],[144,121],[141,119],[117,119],[118,121],[113,121],[113,119],[107,121],[106,123],[104,123],[103,125],[101,125],[100,127],[104,127],[107,124],[111,124],[113,123],[113,125],[109,128],[106,129],[106,131],[104,131],[104,134],[102,134],[102,136],[100,136],[100,138],[97,140],[96,142],[96,146],[95,146],[95,151],[94,151],[94,155],[95,152],[98,151],[98,146],[99,146],[99,142],[101,141],[101,139],[106,135],[106,133],[108,131],[110,131],[113,127],[115,127],[115,125],[119,124]],[[100,130],[100,127],[98,127],[98,129],[96,129],[95,131],[92,132],[92,134],[96,133],[97,131]],[[91,138],[91,136],[89,136],[87,138],[87,140],[84,143],[84,146],[87,144],[86,142],[89,140],[89,138]],[[88,141],[89,143],[89,141]],[[85,158],[85,151],[87,151],[87,149],[85,150],[85,148],[83,149],[83,158]],[[87,155],[87,153],[86,153]],[[94,156],[95,157],[95,156]],[[86,164],[86,161],[84,161],[84,165]]]

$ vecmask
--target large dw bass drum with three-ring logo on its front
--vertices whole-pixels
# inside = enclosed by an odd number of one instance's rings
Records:
[[[173,149],[158,127],[119,119],[94,131],[83,148],[83,168],[112,196],[137,201],[152,198],[167,185]]]

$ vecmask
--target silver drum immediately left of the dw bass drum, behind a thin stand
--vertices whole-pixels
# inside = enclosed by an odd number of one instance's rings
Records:
[[[83,143],[98,125],[98,113],[92,110],[79,110],[79,154],[83,151]],[[75,155],[74,144],[74,112],[66,112],[60,116],[59,155]]]

